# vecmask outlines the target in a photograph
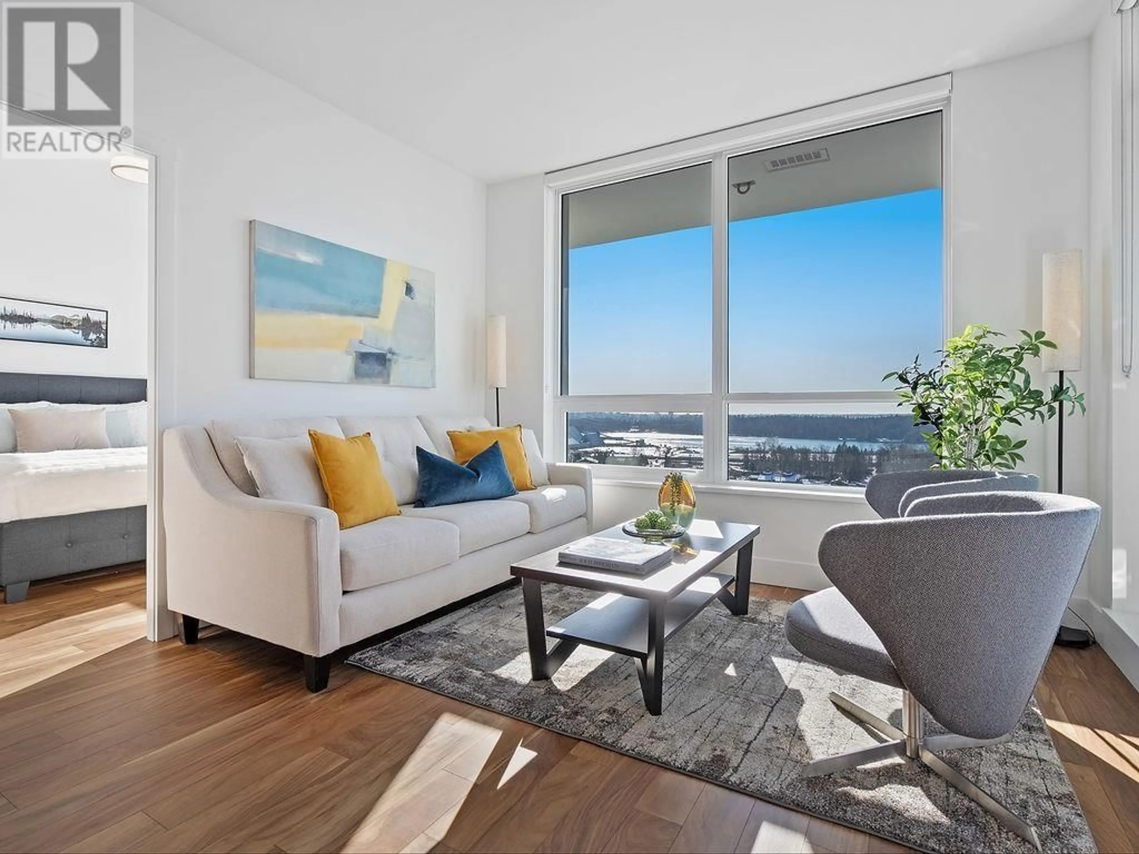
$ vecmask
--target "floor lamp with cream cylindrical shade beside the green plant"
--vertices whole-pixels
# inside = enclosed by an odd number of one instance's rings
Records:
[[[1046,372],[1064,373],[1083,367],[1083,253],[1049,252],[1043,261],[1043,329],[1055,350],[1041,351]],[[1056,413],[1056,491],[1064,492],[1064,404]],[[1091,634],[1062,625],[1056,642],[1065,647],[1090,647]]]

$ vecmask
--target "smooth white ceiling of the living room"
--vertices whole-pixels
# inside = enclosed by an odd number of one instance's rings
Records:
[[[1087,35],[1093,0],[139,0],[501,181]]]

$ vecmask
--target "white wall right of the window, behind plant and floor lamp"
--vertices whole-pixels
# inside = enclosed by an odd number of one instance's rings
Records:
[[[953,74],[952,318],[1017,337],[1041,325],[1041,257],[1088,244],[1089,42]],[[1087,364],[1087,360],[1085,360]],[[1072,375],[1089,407],[1104,405]],[[1056,376],[1038,376],[1055,383]],[[1025,430],[1024,470],[1055,486],[1055,422]],[[1068,419],[1064,490],[1087,492],[1088,426]],[[1041,441],[1043,440],[1043,441]]]

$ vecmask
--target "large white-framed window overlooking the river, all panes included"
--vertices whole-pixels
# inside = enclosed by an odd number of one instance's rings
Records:
[[[944,339],[940,110],[559,202],[567,460],[827,486],[931,465],[883,376]]]

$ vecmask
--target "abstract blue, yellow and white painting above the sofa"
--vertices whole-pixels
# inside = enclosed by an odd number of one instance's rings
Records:
[[[435,386],[435,276],[249,223],[255,379]]]

